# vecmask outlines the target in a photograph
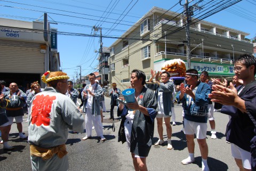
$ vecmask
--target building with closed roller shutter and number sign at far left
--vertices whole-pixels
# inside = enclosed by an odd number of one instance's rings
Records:
[[[57,71],[57,31],[47,23],[44,36],[42,21],[19,21],[0,18],[0,79],[7,86],[15,82],[25,90],[47,71]],[[41,82],[41,86],[44,84]],[[22,88],[23,87],[23,88]]]

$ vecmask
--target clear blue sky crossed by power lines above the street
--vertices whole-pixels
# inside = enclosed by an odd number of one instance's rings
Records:
[[[58,25],[51,24],[51,27],[68,33],[68,35],[58,35],[58,51],[61,68],[71,79],[73,77],[76,79],[76,73],[79,74],[78,65],[82,66],[82,76],[95,71],[98,63],[98,53],[95,53],[95,50],[99,50],[100,44],[99,37],[74,36],[70,35],[71,33],[92,35],[94,34],[92,27],[97,26],[102,28],[103,36],[119,37],[153,6],[181,12],[183,8],[178,2],[178,0],[0,1],[0,18],[33,21],[38,18],[43,19],[43,13],[46,12],[49,20],[58,22]],[[198,1],[191,2],[191,5],[196,2]],[[204,0],[199,5],[206,5],[209,2],[210,0]],[[220,0],[215,2],[220,2]],[[178,5],[175,5],[177,3]],[[181,3],[184,4],[185,0]],[[246,38],[251,39],[256,36],[255,9],[255,1],[243,0],[204,20],[247,32],[250,35]],[[95,32],[95,34],[99,35],[100,32]],[[103,46],[110,46],[115,40],[115,38],[103,38]]]

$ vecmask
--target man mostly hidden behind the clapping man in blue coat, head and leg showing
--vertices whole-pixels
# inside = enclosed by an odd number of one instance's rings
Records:
[[[212,81],[208,78],[209,77],[209,74],[207,71],[202,71],[201,72],[201,75],[200,75],[200,80],[202,83],[206,83],[206,80],[208,79],[209,82],[207,83],[210,87],[211,87],[211,90],[212,90]],[[212,139],[217,139],[216,137],[216,131],[215,131],[215,120],[214,120],[214,117],[213,117],[213,104],[212,104],[212,101],[209,99],[209,103],[208,103],[208,120],[209,120],[209,123],[210,123],[210,126],[211,126],[211,138]]]

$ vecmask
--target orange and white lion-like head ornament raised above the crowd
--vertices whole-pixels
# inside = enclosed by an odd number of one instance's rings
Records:
[[[164,62],[162,70],[169,72],[171,77],[185,77],[186,64],[181,59],[172,59]]]

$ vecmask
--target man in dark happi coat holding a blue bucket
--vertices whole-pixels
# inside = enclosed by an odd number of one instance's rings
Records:
[[[146,88],[146,75],[143,71],[134,69],[131,72],[131,87],[135,89],[133,103],[120,103],[117,113],[121,114],[122,121],[118,132],[118,140],[130,141],[130,151],[135,170],[147,170],[146,158],[154,136],[154,119],[157,114],[157,101],[154,92]],[[132,109],[132,110],[127,110]],[[132,118],[130,137],[124,128],[124,121]],[[125,137],[122,135],[126,134]],[[127,139],[127,138],[130,138]],[[126,140],[125,140],[126,139]]]

